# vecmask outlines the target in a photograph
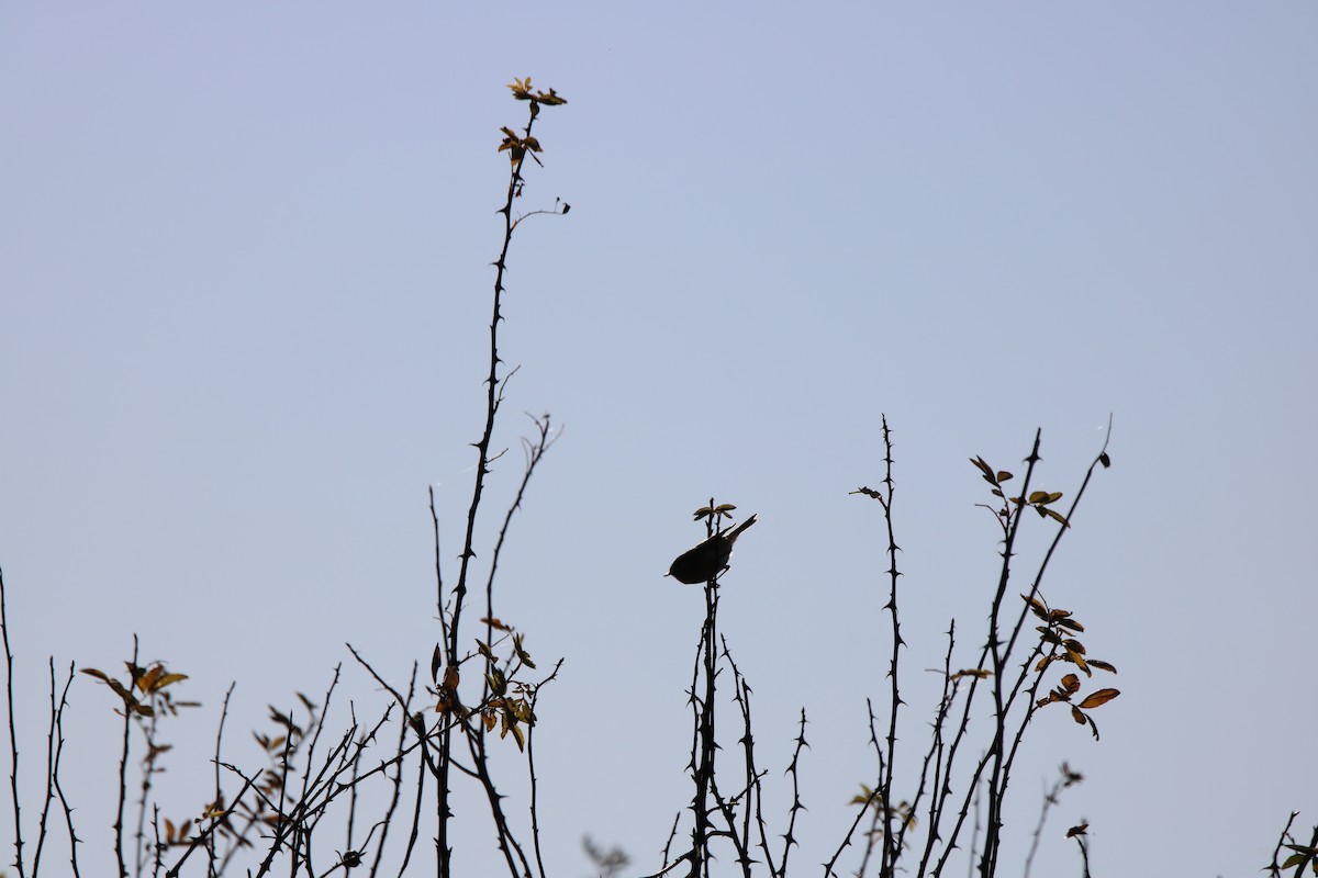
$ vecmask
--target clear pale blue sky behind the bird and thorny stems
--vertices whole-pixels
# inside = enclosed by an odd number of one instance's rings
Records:
[[[710,494],[760,515],[724,621],[775,773],[811,716],[799,865],[832,853],[883,688],[878,508],[847,491],[882,475],[886,412],[907,757],[948,617],[969,663],[995,581],[966,458],[1019,470],[1041,426],[1041,486],[1069,495],[1112,413],[1115,465],[1045,591],[1123,696],[1097,745],[1040,716],[1016,828],[1066,758],[1087,781],[1036,874],[1078,874],[1057,836],[1081,817],[1095,874],[1256,874],[1290,810],[1318,823],[1315,32],[1301,1],[5,7],[0,565],[22,696],[41,710],[47,654],[109,670],[140,633],[206,704],[161,785],[186,811],[229,681],[231,753],[254,761],[245,729],[320,692],[344,641],[395,679],[428,659],[426,491],[452,558],[494,147],[530,75],[571,103],[536,124],[525,207],[573,209],[514,244],[522,370],[489,511],[521,412],[552,412],[500,615],[565,657],[539,729],[555,873],[587,873],[587,832],[658,867],[689,799],[701,602],[660,574]],[[109,703],[91,681],[74,702],[105,850]]]

